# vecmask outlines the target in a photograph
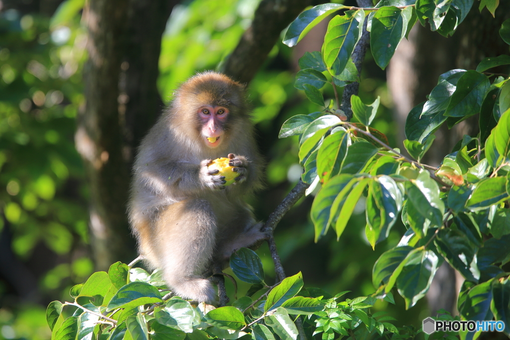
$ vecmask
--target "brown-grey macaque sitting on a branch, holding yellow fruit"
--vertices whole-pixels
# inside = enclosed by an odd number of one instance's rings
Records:
[[[191,77],[143,139],[136,156],[130,223],[147,265],[161,268],[183,298],[214,302],[203,274],[228,266],[241,247],[267,235],[243,200],[261,187],[261,156],[249,121],[244,86],[216,72]],[[209,170],[226,157],[239,173],[231,186]]]

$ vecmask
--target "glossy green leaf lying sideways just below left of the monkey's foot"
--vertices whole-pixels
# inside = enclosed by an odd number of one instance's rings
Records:
[[[129,309],[146,303],[163,302],[158,289],[146,282],[135,281],[124,285],[113,296],[107,310],[115,308]],[[129,327],[128,327],[129,328]]]

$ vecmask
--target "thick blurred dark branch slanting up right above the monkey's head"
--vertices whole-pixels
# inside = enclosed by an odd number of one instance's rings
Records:
[[[313,0],[263,0],[251,26],[223,65],[223,72],[247,84],[257,73],[285,29]]]

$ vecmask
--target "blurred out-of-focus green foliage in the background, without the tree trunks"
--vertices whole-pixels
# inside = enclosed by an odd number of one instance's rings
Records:
[[[88,256],[88,189],[73,142],[75,117],[84,109],[83,3],[67,0],[53,18],[37,13],[21,16],[15,10],[0,12],[0,188],[5,188],[0,190],[5,217],[0,229],[8,229],[13,253],[30,270],[34,250],[41,245],[49,249],[49,253],[42,252],[50,255],[39,259],[44,266],[35,275],[43,306],[50,300],[69,300],[69,287],[84,282],[93,271]],[[195,0],[174,8],[162,40],[158,80],[166,102],[190,75],[221,65],[249,27],[258,4],[259,0]],[[293,86],[297,69],[292,65],[298,57],[282,43],[276,44],[249,86],[252,119],[267,161],[267,189],[251,202],[260,219],[267,218],[302,171],[297,138],[278,140],[279,128],[291,116],[320,111]],[[373,64],[370,53],[366,63]],[[373,126],[394,145],[396,128],[385,75],[366,70],[359,95],[365,102],[381,96]],[[333,93],[324,93],[326,103],[333,97]],[[277,228],[276,242],[288,275],[302,271],[307,284],[330,293],[351,290],[350,297],[372,293],[372,264],[395,246],[401,233],[397,230],[403,226],[396,226],[389,239],[372,251],[360,228],[354,227],[365,224],[360,206],[340,242],[328,235],[315,244],[311,201],[311,197],[301,199]],[[266,273],[272,275],[267,247],[258,253]],[[12,282],[0,281],[0,339],[49,338],[45,307],[20,303]],[[248,285],[240,283],[239,294],[247,289]],[[403,301],[397,298],[396,302],[392,307],[378,301],[374,308],[390,313],[403,310]],[[420,310],[420,317],[427,315],[420,304],[396,317],[397,323],[416,322]]]

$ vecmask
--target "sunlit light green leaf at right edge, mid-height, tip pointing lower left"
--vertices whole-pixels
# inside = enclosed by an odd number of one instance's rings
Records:
[[[475,185],[471,198],[466,203],[471,211],[485,209],[508,199],[506,178],[493,177],[482,179]]]

